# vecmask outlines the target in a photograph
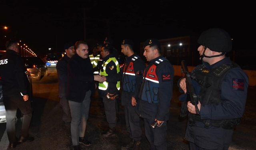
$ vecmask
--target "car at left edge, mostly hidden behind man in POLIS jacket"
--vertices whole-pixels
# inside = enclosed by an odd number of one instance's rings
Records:
[[[0,58],[6,53],[6,50],[0,50]],[[25,68],[26,69],[26,68]],[[25,74],[28,78],[28,82],[29,82],[29,98],[32,98],[32,77],[31,77],[31,73],[27,70],[24,70]],[[19,116],[20,114],[18,114],[19,111],[17,111],[17,116]],[[6,117],[5,117],[5,107],[4,107],[4,102],[3,102],[3,95],[2,95],[2,78],[0,76],[0,123],[4,123],[6,122]]]

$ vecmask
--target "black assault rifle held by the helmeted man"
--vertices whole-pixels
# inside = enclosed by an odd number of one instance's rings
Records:
[[[191,75],[188,72],[188,66],[186,64],[185,60],[181,61],[181,67],[182,67],[182,72],[185,74],[185,78],[186,78],[186,89],[187,89],[187,93],[190,96],[190,102],[195,106],[196,108],[196,114],[199,114],[199,110],[197,107],[198,104],[198,96],[196,95],[196,91],[195,88],[192,84],[192,79],[191,79]],[[188,98],[187,98],[188,99]]]

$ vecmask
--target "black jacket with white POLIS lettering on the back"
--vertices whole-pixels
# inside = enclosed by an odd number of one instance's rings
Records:
[[[7,50],[0,58],[0,76],[2,77],[3,96],[28,94],[28,79],[24,62],[14,50]]]

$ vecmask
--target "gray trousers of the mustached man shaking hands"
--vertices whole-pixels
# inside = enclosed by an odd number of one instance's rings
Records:
[[[74,102],[69,100],[69,107],[71,112],[71,138],[73,146],[79,145],[79,137],[83,138],[85,135],[86,124],[89,117],[91,91],[86,92],[83,102]]]

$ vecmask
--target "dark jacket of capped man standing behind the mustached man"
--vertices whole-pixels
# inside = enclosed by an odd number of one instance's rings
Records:
[[[70,58],[67,55],[64,55],[62,57],[57,65],[56,70],[58,74],[58,83],[59,83],[59,97],[66,97],[66,91],[67,91],[67,83],[68,83],[68,60]]]

